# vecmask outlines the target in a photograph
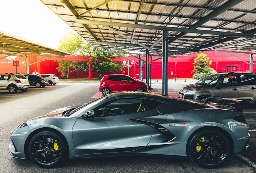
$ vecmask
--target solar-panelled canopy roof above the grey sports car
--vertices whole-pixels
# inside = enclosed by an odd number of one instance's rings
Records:
[[[114,30],[147,46],[151,46],[162,36],[161,30],[153,26],[196,29],[194,33],[191,30],[185,33],[169,28],[169,37],[173,38],[169,41],[170,54],[191,54],[203,50],[215,50],[231,44],[232,49],[242,50],[252,47],[252,50],[256,50],[254,49],[256,3],[251,0],[109,0],[108,3],[105,3],[106,0],[41,0],[41,2],[97,48],[116,49],[112,46],[116,43],[118,48],[125,51],[145,51],[144,47],[135,45],[134,42],[109,30],[107,25],[97,22],[104,21],[148,26],[147,28],[121,24],[120,27],[112,26]],[[83,22],[78,23],[78,19]],[[94,23],[89,24],[87,22],[89,20]],[[207,34],[198,34],[196,33],[198,30],[206,30]],[[218,37],[213,31],[222,32],[224,37],[221,34]],[[235,35],[227,36],[228,33]],[[249,40],[252,41],[246,45],[234,46],[235,43]],[[162,42],[159,42],[153,49],[161,52],[161,45]],[[173,45],[180,50],[173,50]]]

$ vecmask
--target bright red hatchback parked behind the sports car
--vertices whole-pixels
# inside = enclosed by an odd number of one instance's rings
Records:
[[[103,95],[119,91],[140,91],[148,92],[147,83],[131,78],[124,74],[105,75],[101,79],[99,91]]]

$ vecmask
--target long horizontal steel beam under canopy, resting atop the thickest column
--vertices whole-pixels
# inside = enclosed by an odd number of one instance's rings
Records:
[[[95,25],[105,25],[105,26],[118,26],[125,28],[142,28],[142,29],[153,29],[153,30],[167,30],[167,31],[175,31],[175,32],[189,32],[189,33],[197,33],[197,34],[212,34],[212,35],[223,35],[223,32],[220,31],[209,31],[209,30],[197,30],[190,28],[174,28],[174,27],[165,27],[165,26],[153,26],[153,25],[142,25],[142,24],[128,24],[128,23],[119,23],[119,22],[104,22],[104,21],[96,21],[96,20],[76,20],[77,23],[81,24],[95,24]],[[111,29],[111,28],[110,28]],[[225,36],[236,36],[237,33],[233,32],[225,32]],[[253,38],[254,35],[239,33],[244,38]]]

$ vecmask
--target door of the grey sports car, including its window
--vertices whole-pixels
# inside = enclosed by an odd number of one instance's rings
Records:
[[[124,152],[149,144],[153,119],[146,99],[115,99],[93,109],[93,119],[79,118],[72,134],[76,155]]]

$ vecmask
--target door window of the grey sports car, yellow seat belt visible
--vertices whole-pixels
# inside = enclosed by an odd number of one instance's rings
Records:
[[[147,111],[145,99],[118,99],[93,109],[95,117],[109,117]]]

